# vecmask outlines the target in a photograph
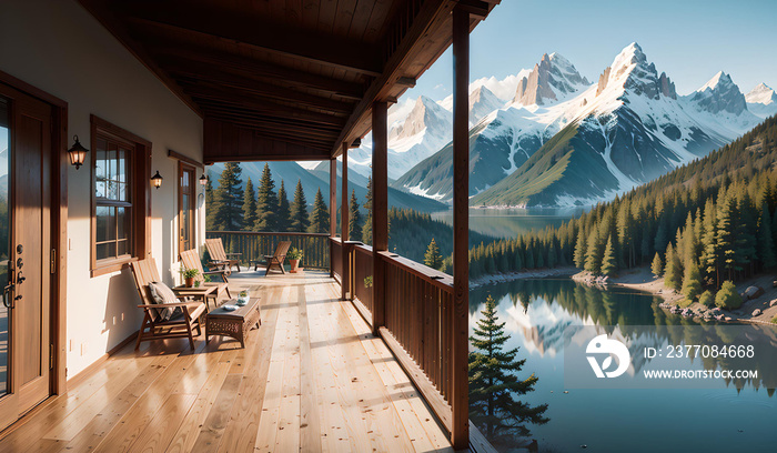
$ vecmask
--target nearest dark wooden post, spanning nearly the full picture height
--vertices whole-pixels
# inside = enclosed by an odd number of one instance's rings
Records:
[[[453,375],[451,442],[470,444],[470,13],[453,10]]]

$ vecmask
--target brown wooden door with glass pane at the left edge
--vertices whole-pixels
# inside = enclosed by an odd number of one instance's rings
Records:
[[[6,382],[0,429],[51,392],[51,122],[52,108],[0,85],[0,260],[6,316]],[[2,125],[2,124],[0,124]],[[0,128],[2,129],[2,128]],[[2,148],[7,147],[6,159]],[[4,173],[4,174],[3,174]],[[4,178],[4,180],[3,180]],[[2,203],[0,203],[2,204]],[[2,215],[2,212],[6,214]],[[2,324],[2,322],[0,322]],[[0,332],[0,338],[3,336]],[[3,362],[0,356],[0,363]]]

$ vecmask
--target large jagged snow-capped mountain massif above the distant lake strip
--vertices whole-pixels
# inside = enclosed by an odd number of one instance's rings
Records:
[[[596,83],[558,54],[516,85],[514,102],[470,131],[473,204],[574,205],[608,200],[706,155],[758,122],[720,73],[688,97],[627,46]],[[450,200],[450,144],[394,183]]]

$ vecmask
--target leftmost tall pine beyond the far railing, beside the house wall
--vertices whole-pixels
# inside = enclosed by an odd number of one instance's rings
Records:
[[[216,231],[239,231],[243,228],[243,181],[239,163],[228,162],[213,193],[212,224]]]

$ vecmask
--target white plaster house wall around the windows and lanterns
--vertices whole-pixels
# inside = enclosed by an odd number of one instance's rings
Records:
[[[178,161],[202,161],[202,119],[74,0],[2,0],[0,70],[68,102],[72,135],[90,148],[90,114],[152,142],[151,252],[168,283],[178,249]],[[90,276],[90,165],[68,171],[68,378],[140,328],[140,299],[128,270]],[[196,178],[202,174],[196,170]],[[196,184],[196,192],[203,189]],[[204,195],[198,198],[198,243],[204,243]]]

